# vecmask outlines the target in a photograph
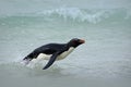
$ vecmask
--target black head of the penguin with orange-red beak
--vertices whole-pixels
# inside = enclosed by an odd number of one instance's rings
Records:
[[[68,46],[69,46],[69,47],[74,47],[74,48],[76,48],[78,46],[80,46],[80,45],[82,45],[82,44],[84,44],[84,42],[85,42],[85,40],[83,40],[83,39],[73,38],[73,39],[71,39],[71,40],[68,42]]]

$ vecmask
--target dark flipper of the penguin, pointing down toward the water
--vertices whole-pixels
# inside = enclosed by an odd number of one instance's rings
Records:
[[[46,66],[45,66],[43,70],[46,70],[46,69],[48,69],[49,66],[51,66],[52,63],[55,62],[55,60],[57,59],[57,57],[58,57],[60,53],[61,53],[61,51],[55,52],[55,53],[51,55],[50,60],[48,61],[48,63],[46,64]]]

